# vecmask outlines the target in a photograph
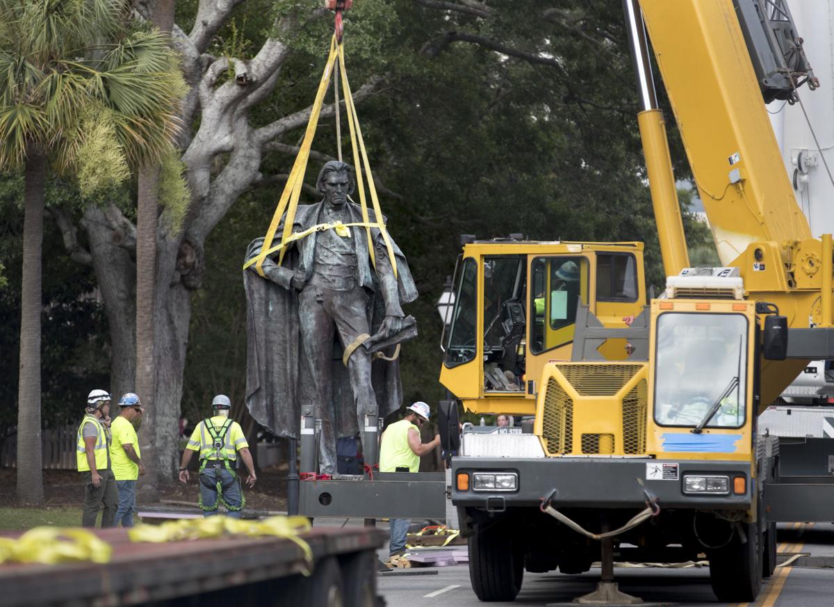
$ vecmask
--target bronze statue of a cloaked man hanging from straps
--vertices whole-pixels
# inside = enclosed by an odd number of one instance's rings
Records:
[[[354,183],[349,164],[326,163],[317,182],[324,198],[299,205],[293,233],[320,224],[362,223],[361,208],[348,201]],[[373,209],[368,213],[374,223]],[[283,233],[285,218],[276,233]],[[298,436],[300,413],[314,412],[322,420],[322,473],[335,471],[337,435],[355,435],[364,415],[387,414],[402,402],[398,362],[373,360],[372,353],[393,354],[394,344],[414,337],[414,319],[404,316],[402,304],[414,301],[417,289],[393,240],[396,277],[379,228],[371,228],[371,242],[375,268],[366,229],[353,226],[325,228],[290,243],[281,265],[266,258],[268,280],[244,271],[246,404],[260,424],[289,438]],[[251,243],[247,259],[262,245],[263,238]]]

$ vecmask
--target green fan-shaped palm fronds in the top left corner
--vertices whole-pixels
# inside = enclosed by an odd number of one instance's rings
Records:
[[[105,176],[95,163],[158,158],[178,129],[186,86],[159,33],[131,31],[122,0],[0,0],[0,168],[35,145],[53,168],[82,168],[87,194]],[[91,115],[108,108],[91,128]],[[86,157],[90,154],[90,157]]]

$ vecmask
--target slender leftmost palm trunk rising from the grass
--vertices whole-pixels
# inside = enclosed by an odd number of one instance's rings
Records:
[[[26,210],[23,216],[23,281],[18,387],[18,502],[43,504],[41,445],[41,312],[43,288],[43,198],[47,163],[30,146],[26,160]]]

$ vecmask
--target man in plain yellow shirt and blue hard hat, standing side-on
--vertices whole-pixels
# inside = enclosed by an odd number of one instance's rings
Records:
[[[118,509],[113,526],[118,527],[121,521],[123,527],[133,527],[133,513],[136,512],[136,480],[139,474],[145,474],[139,453],[139,439],[133,424],[136,423],[145,410],[139,397],[133,392],[125,394],[118,406],[122,409],[118,417],[110,424],[110,461],[113,464],[113,475],[116,477],[118,489]]]

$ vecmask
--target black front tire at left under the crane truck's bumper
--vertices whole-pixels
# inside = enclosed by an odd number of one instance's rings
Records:
[[[469,539],[470,581],[483,601],[515,600],[524,578],[524,554],[509,524],[479,525]]]

